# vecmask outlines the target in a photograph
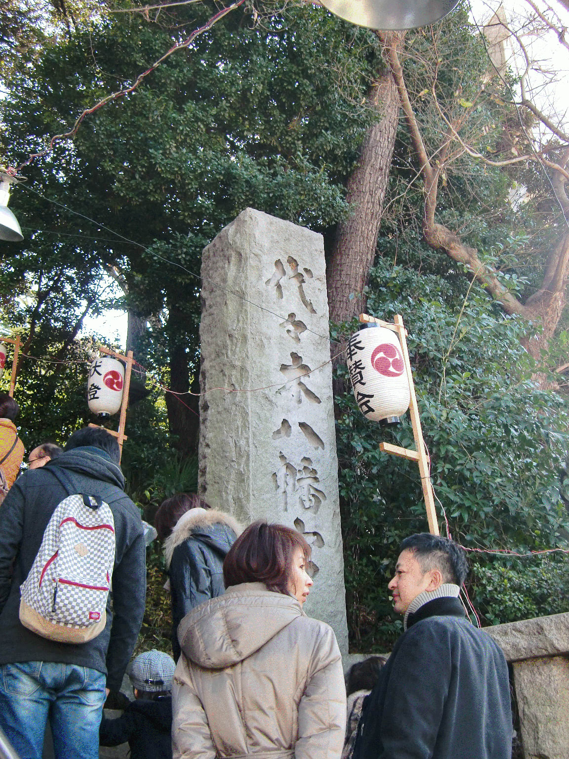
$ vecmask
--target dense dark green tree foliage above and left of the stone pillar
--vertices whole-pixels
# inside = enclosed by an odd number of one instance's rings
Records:
[[[24,51],[0,103],[6,161],[42,150],[216,11],[181,5],[157,24],[102,13]],[[152,318],[137,360],[187,392],[199,366],[201,250],[247,206],[319,230],[347,213],[343,183],[378,60],[372,33],[324,9],[240,8],[31,162],[11,199],[24,243],[0,247],[0,315],[29,335],[27,353],[49,344],[67,355],[84,310],[128,308]],[[167,413],[169,442],[184,447],[187,402]]]

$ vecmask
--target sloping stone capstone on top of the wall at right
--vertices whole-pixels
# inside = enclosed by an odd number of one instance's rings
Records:
[[[484,630],[492,635],[509,662],[569,653],[569,613],[523,619]]]

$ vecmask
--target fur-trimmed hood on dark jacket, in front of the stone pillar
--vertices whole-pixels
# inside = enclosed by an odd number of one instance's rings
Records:
[[[227,530],[231,530],[235,537],[239,537],[243,532],[243,527],[231,514],[220,512],[217,509],[190,509],[181,515],[171,535],[164,541],[166,568],[170,566],[174,549],[184,543],[185,540],[193,538],[193,540],[200,540],[219,548],[218,543],[220,542],[227,545],[225,537]],[[222,541],[219,540],[220,538]],[[225,549],[225,553],[227,550],[228,548]]]

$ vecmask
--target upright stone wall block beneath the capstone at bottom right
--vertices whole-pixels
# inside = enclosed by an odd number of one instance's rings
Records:
[[[514,684],[525,759],[567,759],[569,660],[548,657],[515,662]]]

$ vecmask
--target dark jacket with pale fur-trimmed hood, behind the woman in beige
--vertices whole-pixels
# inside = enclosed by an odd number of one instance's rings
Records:
[[[176,631],[184,616],[194,606],[224,593],[223,559],[240,532],[240,524],[225,512],[190,509],[165,541],[174,660],[180,657]]]

